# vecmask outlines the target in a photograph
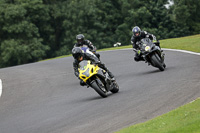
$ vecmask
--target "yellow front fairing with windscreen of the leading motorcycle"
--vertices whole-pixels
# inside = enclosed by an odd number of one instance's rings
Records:
[[[81,61],[79,63],[79,78],[86,82],[91,76],[97,74],[99,67],[97,65],[91,64],[90,61]]]

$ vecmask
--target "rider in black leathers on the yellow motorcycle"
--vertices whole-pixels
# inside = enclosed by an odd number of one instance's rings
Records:
[[[114,75],[108,70],[108,68],[106,68],[106,66],[103,63],[101,63],[101,61],[97,57],[92,56],[91,54],[88,54],[88,53],[83,53],[83,51],[79,47],[75,47],[72,49],[72,55],[74,57],[73,68],[74,68],[74,74],[76,77],[79,78],[79,71],[78,71],[79,63],[82,60],[90,60],[93,64],[97,64],[100,68],[108,72],[111,80],[113,82],[115,81]],[[86,85],[82,79],[80,79],[80,85],[81,86]]]

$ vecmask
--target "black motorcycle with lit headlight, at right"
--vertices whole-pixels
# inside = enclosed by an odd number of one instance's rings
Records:
[[[156,46],[149,38],[143,38],[137,42],[137,45],[140,48],[140,54],[145,63],[159,68],[160,71],[165,70],[164,54],[162,54],[160,47]],[[136,49],[134,51],[138,52]]]

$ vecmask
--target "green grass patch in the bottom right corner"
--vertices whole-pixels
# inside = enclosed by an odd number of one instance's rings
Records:
[[[200,99],[116,133],[200,133]]]

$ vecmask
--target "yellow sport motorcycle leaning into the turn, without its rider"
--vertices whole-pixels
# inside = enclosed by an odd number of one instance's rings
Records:
[[[108,92],[117,93],[119,86],[117,82],[111,81],[108,73],[98,65],[92,64],[89,60],[79,63],[79,78],[88,86],[92,87],[101,97],[105,98]]]

